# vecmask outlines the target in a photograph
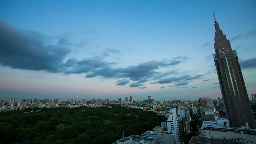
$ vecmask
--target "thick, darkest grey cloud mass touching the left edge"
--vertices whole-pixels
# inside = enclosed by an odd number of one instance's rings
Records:
[[[49,37],[33,31],[18,31],[0,20],[0,64],[24,70],[57,72],[70,49],[52,44]],[[62,41],[62,40],[61,40]]]

